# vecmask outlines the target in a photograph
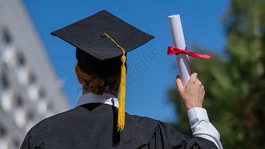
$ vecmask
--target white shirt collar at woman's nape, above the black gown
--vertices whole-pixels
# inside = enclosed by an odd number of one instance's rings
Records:
[[[87,103],[104,103],[119,108],[119,101],[117,97],[106,92],[102,95],[95,95],[92,92],[86,93],[79,98],[76,107]]]

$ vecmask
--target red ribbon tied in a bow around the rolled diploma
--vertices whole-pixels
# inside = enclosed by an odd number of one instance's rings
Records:
[[[185,47],[185,50],[177,49],[175,47],[168,47],[168,55],[174,55],[174,54],[178,55],[180,53],[189,55],[189,56],[191,56],[193,58],[196,58],[198,60],[200,60],[198,57],[206,58],[206,59],[210,59],[210,58],[216,57],[216,56],[208,56],[206,54],[198,54],[198,53],[194,53],[194,52],[189,52],[189,51],[187,51],[187,47]]]

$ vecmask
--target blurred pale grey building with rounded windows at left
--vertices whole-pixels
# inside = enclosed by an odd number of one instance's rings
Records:
[[[20,0],[0,0],[0,149],[20,147],[29,129],[70,109],[46,49]]]

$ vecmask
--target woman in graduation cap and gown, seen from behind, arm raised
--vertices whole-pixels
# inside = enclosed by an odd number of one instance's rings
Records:
[[[76,108],[35,125],[21,149],[222,148],[219,133],[202,108],[204,89],[195,72],[185,87],[179,76],[176,80],[194,138],[167,123],[124,112],[126,53],[153,36],[105,10],[51,34],[77,48],[75,72],[83,95]]]

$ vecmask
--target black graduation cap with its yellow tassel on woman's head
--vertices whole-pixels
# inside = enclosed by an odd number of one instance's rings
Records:
[[[75,46],[80,68],[87,74],[112,76],[121,71],[118,127],[124,127],[126,53],[155,38],[101,10],[83,20],[56,30],[58,36]]]

